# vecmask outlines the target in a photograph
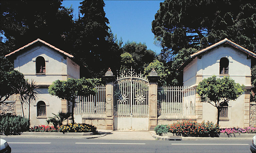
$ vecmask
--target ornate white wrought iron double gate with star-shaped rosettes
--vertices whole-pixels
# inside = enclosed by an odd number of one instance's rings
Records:
[[[148,130],[149,82],[131,68],[114,82],[114,129]]]

